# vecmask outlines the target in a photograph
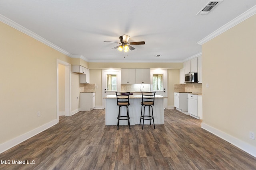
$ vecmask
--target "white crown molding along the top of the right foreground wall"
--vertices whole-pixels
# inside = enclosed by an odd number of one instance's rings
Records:
[[[242,21],[250,18],[254,14],[256,14],[256,5],[253,6],[252,8],[250,8],[249,10],[247,10],[246,12],[244,12],[243,14],[241,14],[240,16],[236,17],[234,20],[231,20],[230,22],[226,23],[225,25],[223,25],[222,27],[220,27],[219,29],[217,29],[216,31],[214,31],[213,33],[211,33],[204,39],[198,41],[197,44],[203,45],[204,43],[210,41],[214,37],[217,37],[221,33],[224,33],[228,29],[230,29],[230,28],[234,27],[235,25],[241,23]]]

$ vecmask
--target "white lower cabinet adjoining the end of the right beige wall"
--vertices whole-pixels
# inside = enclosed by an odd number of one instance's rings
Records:
[[[196,119],[202,119],[202,95],[188,95],[188,113]]]

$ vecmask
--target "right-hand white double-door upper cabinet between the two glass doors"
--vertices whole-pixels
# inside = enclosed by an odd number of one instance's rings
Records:
[[[150,84],[150,68],[136,68],[136,84]]]

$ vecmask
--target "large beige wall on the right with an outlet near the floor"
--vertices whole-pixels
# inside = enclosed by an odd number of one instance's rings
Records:
[[[256,15],[202,45],[203,123],[254,147],[255,64]]]

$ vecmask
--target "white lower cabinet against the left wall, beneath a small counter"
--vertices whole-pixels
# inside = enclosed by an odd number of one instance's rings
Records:
[[[80,93],[80,111],[91,111],[95,107],[95,92]]]

